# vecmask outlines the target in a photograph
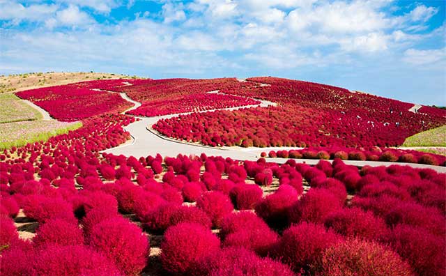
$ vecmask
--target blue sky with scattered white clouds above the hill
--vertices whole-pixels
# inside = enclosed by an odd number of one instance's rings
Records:
[[[445,1],[0,0],[0,74],[277,76],[446,105]]]

